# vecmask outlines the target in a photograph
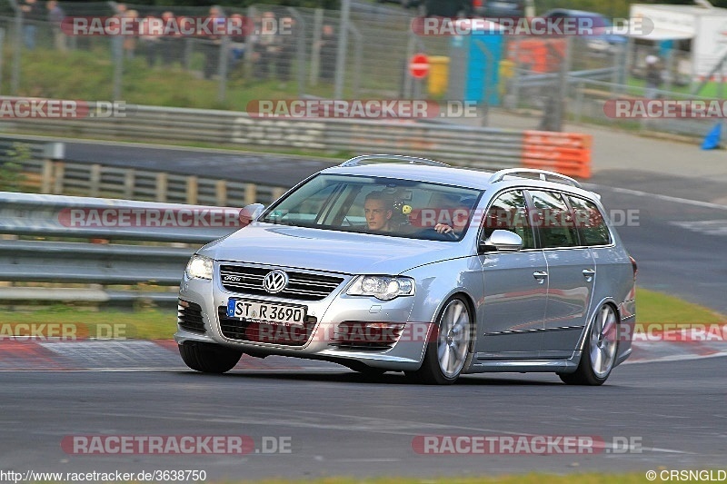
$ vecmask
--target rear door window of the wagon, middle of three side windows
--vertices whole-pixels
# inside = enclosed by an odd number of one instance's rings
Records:
[[[533,223],[540,232],[543,249],[575,247],[578,232],[573,223],[573,213],[563,201],[560,193],[529,191],[533,199]]]

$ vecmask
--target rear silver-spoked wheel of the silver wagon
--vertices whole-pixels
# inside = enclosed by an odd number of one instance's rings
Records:
[[[558,373],[569,385],[603,385],[608,380],[618,351],[618,316],[611,304],[603,304],[593,316],[593,323],[583,345],[578,369]]]

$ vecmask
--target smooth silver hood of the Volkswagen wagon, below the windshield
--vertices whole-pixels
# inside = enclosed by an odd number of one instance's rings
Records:
[[[255,222],[198,253],[248,262],[348,274],[398,274],[464,255],[466,242],[422,241]]]

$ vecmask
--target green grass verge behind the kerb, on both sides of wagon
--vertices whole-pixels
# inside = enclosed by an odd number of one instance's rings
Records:
[[[648,324],[652,330],[654,325],[664,323],[727,322],[727,317],[722,314],[662,292],[639,289],[636,301],[638,324]],[[27,334],[29,330],[25,326],[17,327],[25,323],[45,324],[45,331],[55,331],[57,336],[61,336],[63,331],[74,331],[78,339],[168,340],[176,331],[175,318],[174,310],[95,311],[66,305],[40,310],[0,311],[0,339],[11,336],[11,331],[18,336]]]

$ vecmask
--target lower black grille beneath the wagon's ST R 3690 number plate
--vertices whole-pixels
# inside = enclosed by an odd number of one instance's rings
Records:
[[[220,330],[225,338],[289,346],[303,346],[308,342],[311,339],[311,334],[313,334],[315,323],[318,321],[314,316],[308,316],[303,326],[240,321],[235,318],[228,318],[225,306],[220,306],[217,309],[217,314],[220,318]]]

